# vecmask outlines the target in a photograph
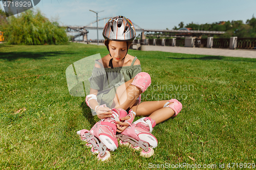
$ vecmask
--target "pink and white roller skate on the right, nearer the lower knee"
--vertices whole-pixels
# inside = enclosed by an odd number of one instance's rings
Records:
[[[153,148],[157,147],[157,139],[151,134],[156,126],[155,120],[150,117],[142,117],[127,127],[122,133],[116,135],[120,144],[131,143],[131,147],[139,150],[142,157],[151,157],[154,154]]]

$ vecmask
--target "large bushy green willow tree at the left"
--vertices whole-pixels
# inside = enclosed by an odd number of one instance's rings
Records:
[[[50,22],[38,10],[27,10],[18,17],[8,17],[4,25],[4,36],[8,44],[63,44],[68,42],[65,29],[58,22]]]

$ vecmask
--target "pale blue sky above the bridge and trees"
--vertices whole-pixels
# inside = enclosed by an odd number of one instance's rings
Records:
[[[39,8],[49,19],[58,18],[60,25],[89,25],[96,20],[96,14],[89,10],[104,10],[99,13],[99,19],[123,15],[143,29],[172,29],[178,27],[181,21],[185,25],[192,21],[198,24],[227,20],[246,22],[253,14],[256,16],[256,0],[41,0],[35,8]],[[104,26],[103,20],[99,21],[99,26]],[[96,31],[89,30],[88,36],[96,38]],[[101,31],[99,39],[103,39]]]

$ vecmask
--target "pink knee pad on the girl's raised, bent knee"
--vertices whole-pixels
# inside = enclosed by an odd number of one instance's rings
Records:
[[[146,72],[140,72],[138,73],[132,82],[132,85],[139,87],[142,92],[144,92],[148,86],[151,84],[151,77]]]

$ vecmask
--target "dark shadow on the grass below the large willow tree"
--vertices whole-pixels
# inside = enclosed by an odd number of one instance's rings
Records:
[[[46,57],[55,57],[60,55],[71,55],[74,53],[70,52],[10,52],[3,53],[0,52],[0,59],[14,61],[18,58],[28,58],[28,59],[46,59]]]

